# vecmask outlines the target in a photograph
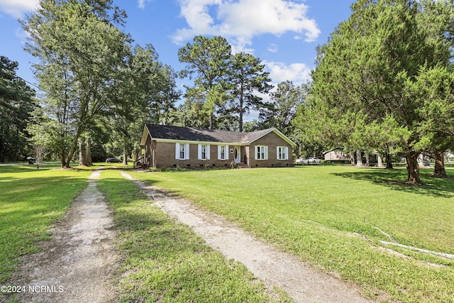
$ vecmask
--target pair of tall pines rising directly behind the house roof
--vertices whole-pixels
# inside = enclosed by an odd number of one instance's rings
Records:
[[[257,94],[272,88],[270,73],[253,55],[232,55],[225,38],[196,36],[179,49],[178,57],[187,64],[181,77],[194,79],[194,87],[186,87],[187,101],[179,108],[183,112],[174,115],[177,124],[243,131],[243,115],[264,106]]]

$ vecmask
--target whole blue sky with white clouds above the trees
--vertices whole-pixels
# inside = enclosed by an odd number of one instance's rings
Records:
[[[0,0],[0,55],[19,62],[17,74],[35,83],[31,62],[23,50],[26,33],[18,18],[30,13],[37,0]],[[160,61],[174,70],[177,51],[195,35],[223,35],[233,51],[259,57],[273,84],[310,79],[316,47],[350,16],[353,0],[114,0],[128,13],[123,31],[135,44],[151,43]],[[177,84],[189,80],[180,79]]]

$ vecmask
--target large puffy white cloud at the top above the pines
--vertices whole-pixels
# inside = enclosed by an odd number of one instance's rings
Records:
[[[243,51],[256,35],[287,32],[315,40],[320,30],[314,19],[306,16],[308,6],[291,0],[179,0],[180,16],[187,28],[172,37],[181,44],[195,35],[222,35],[237,50]]]

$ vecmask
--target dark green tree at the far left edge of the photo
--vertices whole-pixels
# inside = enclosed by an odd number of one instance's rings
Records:
[[[0,162],[23,160],[30,148],[26,131],[35,92],[16,76],[17,62],[0,56]]]

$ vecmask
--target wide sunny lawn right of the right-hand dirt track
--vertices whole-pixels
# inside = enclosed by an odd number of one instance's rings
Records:
[[[317,268],[338,272],[368,297],[385,292],[402,302],[454,302],[452,259],[379,243],[389,238],[377,228],[404,245],[454,254],[454,180],[430,174],[421,170],[425,187],[405,185],[402,169],[341,165],[133,176],[187,197]]]

